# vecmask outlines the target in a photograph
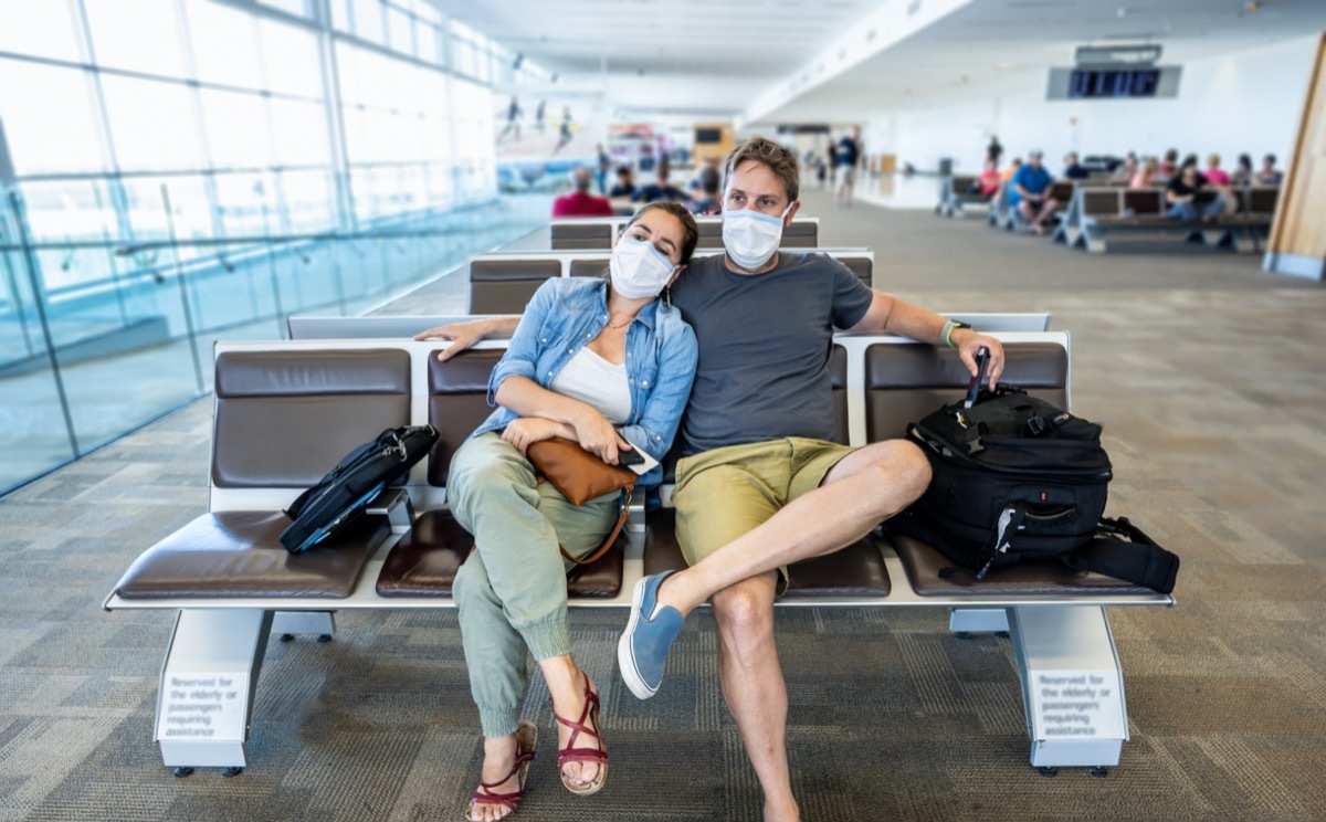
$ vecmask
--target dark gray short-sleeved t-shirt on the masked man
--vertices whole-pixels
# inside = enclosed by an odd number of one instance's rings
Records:
[[[834,327],[866,316],[874,292],[829,255],[780,252],[762,274],[697,257],[672,285],[700,362],[682,418],[686,455],[785,436],[833,439]]]

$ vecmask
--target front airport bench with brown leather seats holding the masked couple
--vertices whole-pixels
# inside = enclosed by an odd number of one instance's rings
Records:
[[[1063,333],[1001,334],[1004,379],[1067,404]],[[446,506],[450,455],[488,415],[488,375],[504,343],[481,343],[447,363],[444,343],[410,339],[219,343],[210,512],[145,552],[106,601],[110,610],[176,610],[156,697],[154,738],[167,766],[248,764],[253,693],[268,636],[334,632],[333,613],[453,607],[451,587],[472,538]],[[961,391],[956,353],[888,335],[838,334],[831,355],[835,439],[865,444],[902,434],[911,419]],[[386,427],[432,423],[438,445],[402,488],[329,545],[289,556],[276,541],[280,510],[345,452]],[[668,491],[664,485],[663,491]],[[643,495],[640,495],[643,496]],[[621,550],[568,578],[574,607],[623,607],[642,575],[682,566],[674,512],[636,508]],[[415,512],[419,512],[415,516]],[[1081,579],[1066,567],[1021,567],[980,583],[940,573],[930,548],[883,532],[794,563],[781,606],[930,606],[955,631],[1008,631],[1022,688],[1045,671],[1119,677],[1118,716],[1090,740],[1053,738],[1028,705],[1032,764],[1106,766],[1127,738],[1122,674],[1106,606],[1172,605],[1118,581]],[[1077,666],[1077,667],[1074,667]],[[206,738],[168,724],[182,692],[167,683],[225,672],[240,683]],[[247,699],[244,699],[247,695]],[[1109,711],[1106,712],[1109,713]],[[178,716],[178,715],[176,715]]]

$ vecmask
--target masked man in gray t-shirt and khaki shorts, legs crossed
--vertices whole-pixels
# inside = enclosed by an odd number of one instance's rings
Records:
[[[700,346],[676,467],[678,537],[691,567],[642,579],[618,648],[636,696],[662,681],[684,616],[704,601],[719,627],[719,677],[765,795],[768,821],[800,818],[788,770],[788,691],[773,638],[784,569],[851,545],[924,492],[930,465],[903,440],[849,448],[833,436],[829,355],[834,327],[951,343],[975,374],[996,339],[863,285],[827,255],[781,252],[800,203],[796,156],[770,141],[739,146],[724,168],[723,255],[695,257],[672,304]],[[776,276],[770,276],[776,274]],[[830,288],[831,285],[831,288]],[[456,341],[442,355],[516,321],[431,329]]]

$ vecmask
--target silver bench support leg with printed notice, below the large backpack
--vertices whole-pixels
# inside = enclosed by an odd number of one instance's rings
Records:
[[[1119,764],[1128,738],[1123,675],[1105,609],[1012,607],[1034,768]]]

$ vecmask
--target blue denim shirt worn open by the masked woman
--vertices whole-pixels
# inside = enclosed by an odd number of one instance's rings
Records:
[[[607,323],[607,280],[553,277],[538,286],[525,306],[507,354],[488,379],[488,404],[497,406],[497,386],[508,377],[526,377],[546,388],[553,375]],[[626,329],[626,377],[631,415],[622,436],[656,460],[672,445],[682,411],[691,395],[699,347],[682,312],[655,300],[640,309]],[[497,410],[471,435],[500,431],[520,415]],[[660,467],[640,477],[656,485]]]

